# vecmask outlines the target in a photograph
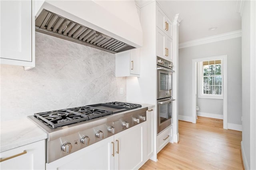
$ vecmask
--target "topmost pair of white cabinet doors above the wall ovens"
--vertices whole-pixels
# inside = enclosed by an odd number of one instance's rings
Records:
[[[156,26],[170,38],[172,38],[172,21],[164,14],[159,6],[156,6]]]

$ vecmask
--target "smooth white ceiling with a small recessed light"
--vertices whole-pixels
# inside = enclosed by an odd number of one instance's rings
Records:
[[[241,30],[237,0],[159,0],[158,3],[173,17],[180,14],[179,43]],[[217,27],[216,30],[209,30]]]

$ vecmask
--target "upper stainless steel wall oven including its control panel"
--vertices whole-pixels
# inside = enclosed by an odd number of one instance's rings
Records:
[[[157,99],[172,97],[173,64],[171,61],[157,58]]]

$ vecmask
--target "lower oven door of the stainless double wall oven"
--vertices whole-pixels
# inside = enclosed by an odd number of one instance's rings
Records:
[[[172,125],[172,101],[175,99],[160,99],[157,107],[157,133]]]

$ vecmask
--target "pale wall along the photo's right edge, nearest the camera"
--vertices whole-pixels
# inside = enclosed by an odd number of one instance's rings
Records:
[[[256,2],[242,8],[242,142],[245,169],[256,169]]]

